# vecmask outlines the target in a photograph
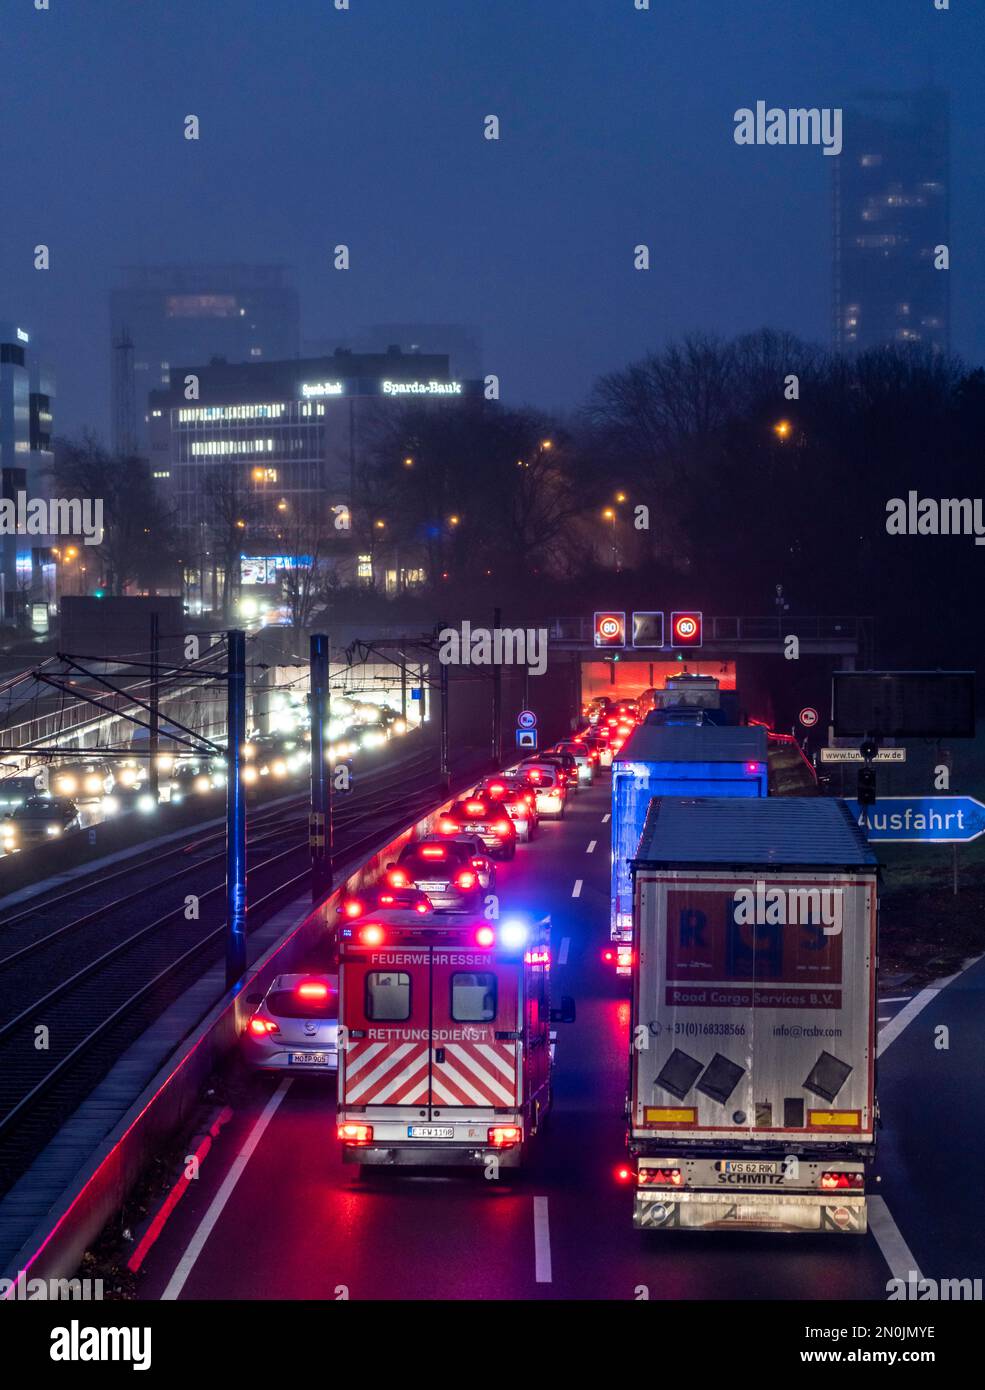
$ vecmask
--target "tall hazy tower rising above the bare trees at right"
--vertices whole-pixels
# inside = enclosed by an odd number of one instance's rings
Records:
[[[834,174],[834,342],[950,348],[947,93],[867,93],[845,110]]]

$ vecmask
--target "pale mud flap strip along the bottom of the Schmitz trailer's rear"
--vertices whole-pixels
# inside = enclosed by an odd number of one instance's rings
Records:
[[[750,1193],[638,1193],[632,1213],[638,1230],[750,1230],[813,1232],[814,1234],[864,1236],[868,1229],[866,1198],[832,1201],[814,1194]]]

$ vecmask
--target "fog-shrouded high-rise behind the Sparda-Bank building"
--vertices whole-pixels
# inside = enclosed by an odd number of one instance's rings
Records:
[[[297,356],[297,291],[283,265],[131,265],[122,275],[110,295],[117,453],[146,453],[147,398],[169,384],[172,364]]]

